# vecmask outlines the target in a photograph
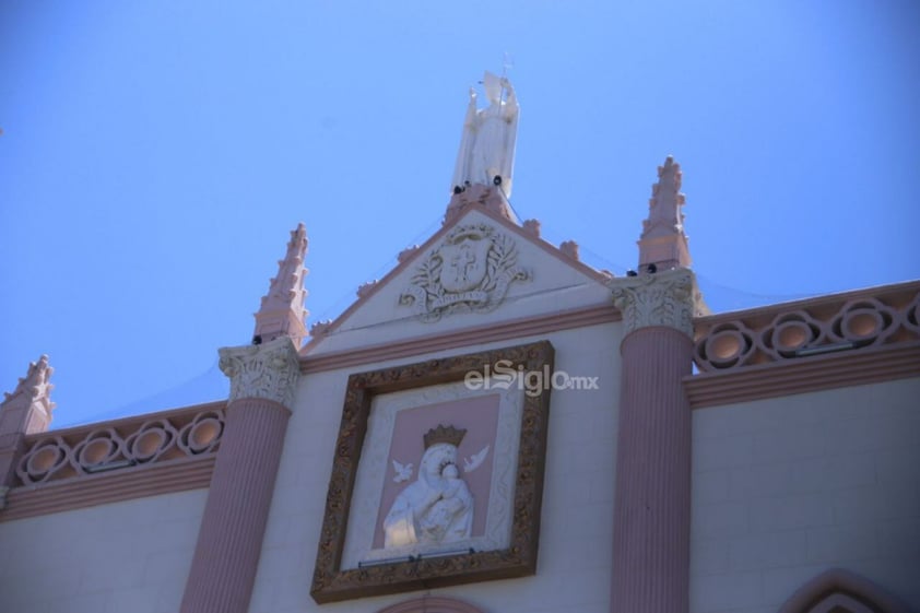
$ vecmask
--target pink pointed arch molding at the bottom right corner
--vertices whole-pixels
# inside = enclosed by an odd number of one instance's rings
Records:
[[[831,568],[799,588],[778,613],[908,613],[908,608],[861,575]]]

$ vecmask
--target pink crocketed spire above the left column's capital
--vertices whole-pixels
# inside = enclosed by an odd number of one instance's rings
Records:
[[[304,258],[307,255],[307,229],[298,224],[297,229],[291,232],[287,252],[278,262],[278,275],[271,280],[269,293],[262,297],[259,313],[256,314],[256,331],[253,343],[267,343],[279,337],[290,337],[294,345],[299,347],[307,335],[304,322],[307,309],[304,302],[307,291],[304,290]]]

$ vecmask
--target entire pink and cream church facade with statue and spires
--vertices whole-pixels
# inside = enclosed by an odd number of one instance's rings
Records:
[[[441,228],[307,331],[299,225],[227,400],[56,431],[30,366],[1,611],[920,610],[920,282],[709,313],[670,157],[595,270],[511,212],[486,82]]]

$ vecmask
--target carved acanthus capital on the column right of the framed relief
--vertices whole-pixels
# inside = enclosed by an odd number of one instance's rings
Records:
[[[696,279],[687,269],[613,279],[613,303],[623,313],[624,337],[640,328],[667,326],[693,337],[693,318],[705,310]]]

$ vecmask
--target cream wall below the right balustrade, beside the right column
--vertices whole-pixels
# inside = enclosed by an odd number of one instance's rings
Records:
[[[920,379],[694,412],[691,611],[775,612],[819,573],[920,610]]]

